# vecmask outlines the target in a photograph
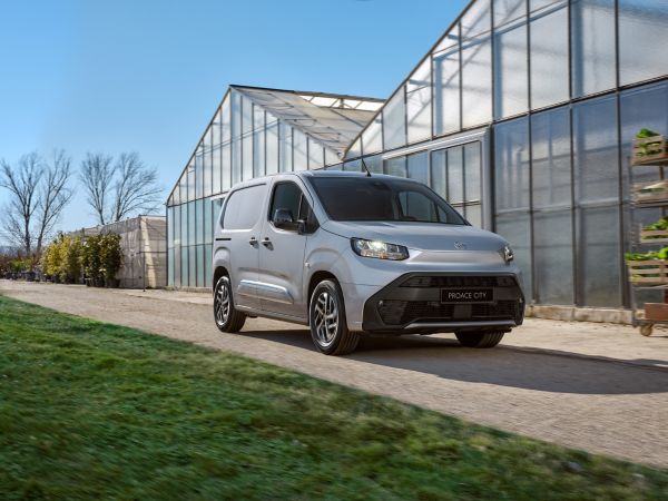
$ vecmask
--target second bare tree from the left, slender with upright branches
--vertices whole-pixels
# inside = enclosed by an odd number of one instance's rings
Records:
[[[72,159],[63,149],[53,150],[51,161],[43,168],[37,208],[37,254],[41,254],[45,239],[51,236],[62,209],[72,199],[73,191],[68,187]]]

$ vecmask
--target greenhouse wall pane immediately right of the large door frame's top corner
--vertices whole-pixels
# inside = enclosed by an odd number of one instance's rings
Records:
[[[529,127],[525,118],[494,127],[497,210],[529,208]]]

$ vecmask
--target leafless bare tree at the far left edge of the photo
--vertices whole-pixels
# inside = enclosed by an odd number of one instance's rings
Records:
[[[4,208],[2,226],[10,242],[27,255],[32,250],[32,217],[39,206],[39,185],[43,164],[37,151],[23,155],[17,167],[0,160],[0,186],[11,196]]]

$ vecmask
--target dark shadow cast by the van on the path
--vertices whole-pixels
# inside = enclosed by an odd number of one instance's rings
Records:
[[[320,355],[306,330],[249,331],[239,335],[288,344]],[[428,336],[365,337],[346,358],[433,374],[452,381],[551,393],[621,395],[667,393],[668,371],[615,360],[538,353],[500,345],[462,347],[456,340]],[[657,361],[658,362],[658,361]]]

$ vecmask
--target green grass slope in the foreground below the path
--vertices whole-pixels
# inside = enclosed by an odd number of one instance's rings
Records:
[[[3,500],[667,492],[666,471],[0,297]]]

